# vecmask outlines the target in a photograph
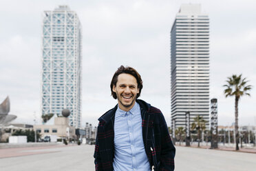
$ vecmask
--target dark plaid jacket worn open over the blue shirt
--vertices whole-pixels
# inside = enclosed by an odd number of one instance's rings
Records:
[[[151,168],[154,170],[174,170],[175,148],[169,136],[167,123],[162,112],[149,103],[136,100],[142,117],[142,136]],[[115,108],[98,119],[98,132],[94,151],[97,171],[113,170],[114,161],[114,121]]]

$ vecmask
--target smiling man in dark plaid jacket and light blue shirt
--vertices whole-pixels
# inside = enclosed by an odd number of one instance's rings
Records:
[[[98,119],[95,168],[114,171],[174,170],[175,148],[162,112],[139,100],[140,74],[120,66],[110,88],[118,105]]]

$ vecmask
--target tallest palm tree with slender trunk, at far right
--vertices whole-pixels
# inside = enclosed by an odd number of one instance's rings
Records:
[[[226,80],[226,82],[227,84],[224,85],[224,87],[226,88],[224,90],[224,94],[226,95],[226,97],[235,96],[235,150],[239,150],[238,101],[240,97],[242,97],[244,94],[250,96],[248,90],[250,90],[252,86],[246,85],[248,81],[246,81],[246,78],[242,79],[242,74],[240,74],[238,77],[236,74],[233,74],[232,77],[228,77],[228,80]]]

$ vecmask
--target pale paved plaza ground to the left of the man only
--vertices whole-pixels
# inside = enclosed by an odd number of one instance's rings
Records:
[[[39,148],[0,149],[1,171],[94,170],[94,145],[61,145]],[[8,151],[10,150],[10,151]],[[3,153],[18,157],[3,158]],[[23,156],[21,155],[23,154]]]

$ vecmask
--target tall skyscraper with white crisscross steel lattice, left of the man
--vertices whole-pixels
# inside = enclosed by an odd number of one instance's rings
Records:
[[[42,114],[70,110],[70,125],[81,127],[82,28],[76,12],[58,6],[43,13]]]

